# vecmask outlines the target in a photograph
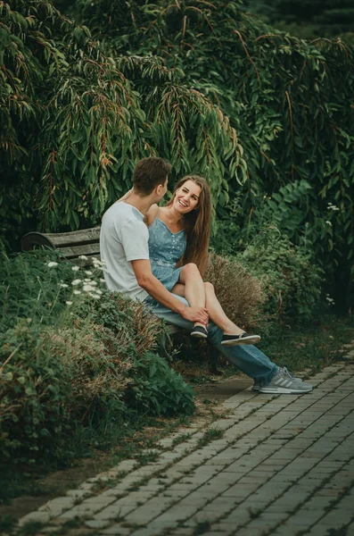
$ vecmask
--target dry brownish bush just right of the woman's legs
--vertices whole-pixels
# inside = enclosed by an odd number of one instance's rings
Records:
[[[221,306],[233,322],[245,330],[259,325],[265,297],[260,282],[242,264],[210,254],[205,281],[214,285]]]

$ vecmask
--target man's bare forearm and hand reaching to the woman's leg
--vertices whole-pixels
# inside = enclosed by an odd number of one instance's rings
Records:
[[[182,304],[177,297],[166,289],[161,281],[152,274],[150,261],[139,259],[131,261],[133,270],[136,274],[136,281],[140,287],[156,299],[162,306],[168,307],[171,311],[180,314],[191,322],[201,322],[208,324],[209,316],[207,309],[204,307],[188,307]]]

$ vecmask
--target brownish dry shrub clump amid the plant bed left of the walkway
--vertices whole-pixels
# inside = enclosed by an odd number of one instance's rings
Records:
[[[136,357],[158,348],[161,321],[141,302],[104,293],[89,317],[48,329],[51,353],[70,371],[70,411],[86,415],[95,400],[122,399],[134,382]]]

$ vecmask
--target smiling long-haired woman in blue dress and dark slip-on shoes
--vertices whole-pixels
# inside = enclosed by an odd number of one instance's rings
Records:
[[[255,344],[259,335],[245,333],[227,318],[211,283],[202,281],[208,264],[210,220],[207,181],[199,175],[185,176],[167,205],[152,205],[146,214],[152,273],[190,306],[208,309],[210,320],[224,332],[222,345]],[[207,338],[206,326],[195,323],[191,335]]]

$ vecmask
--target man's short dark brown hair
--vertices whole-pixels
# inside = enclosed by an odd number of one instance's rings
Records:
[[[138,194],[148,196],[153,188],[164,185],[171,166],[163,158],[149,156],[139,160],[133,174],[133,186]]]

